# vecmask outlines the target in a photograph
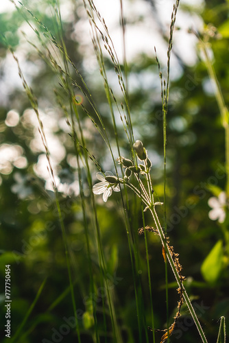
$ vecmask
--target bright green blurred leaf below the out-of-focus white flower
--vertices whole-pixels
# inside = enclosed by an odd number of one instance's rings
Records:
[[[204,260],[201,266],[201,272],[204,279],[208,283],[215,283],[219,279],[219,275],[223,268],[224,252],[223,243],[221,239],[217,241],[217,244],[210,250],[208,256]]]

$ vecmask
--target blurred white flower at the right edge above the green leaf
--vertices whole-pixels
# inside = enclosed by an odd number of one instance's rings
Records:
[[[225,192],[221,192],[218,198],[213,196],[208,199],[208,205],[212,208],[208,213],[208,217],[211,220],[218,220],[219,223],[224,222],[226,217],[226,207],[228,207],[226,200]]]

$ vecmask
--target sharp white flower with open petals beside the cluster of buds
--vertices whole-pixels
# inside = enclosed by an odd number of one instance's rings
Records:
[[[101,182],[93,186],[93,193],[95,194],[103,193],[104,202],[106,202],[108,200],[108,197],[111,196],[112,191],[115,191],[115,192],[120,191],[119,185],[117,184],[117,182],[115,182],[117,178],[114,176],[114,174],[112,174],[111,171],[106,171],[105,176],[103,173],[97,173],[96,176],[98,180],[100,180]],[[106,180],[106,177],[108,177],[110,182]]]

